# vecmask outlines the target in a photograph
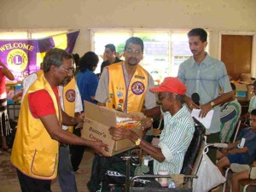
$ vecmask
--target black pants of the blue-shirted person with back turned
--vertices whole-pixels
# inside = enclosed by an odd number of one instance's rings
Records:
[[[81,130],[74,129],[73,134],[78,137],[81,137]],[[71,145],[70,146],[70,153],[71,153],[71,164],[73,166],[73,171],[77,172],[79,170],[79,165],[84,156],[84,146],[80,145]]]

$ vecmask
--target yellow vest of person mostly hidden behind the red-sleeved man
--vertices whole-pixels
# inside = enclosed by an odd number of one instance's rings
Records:
[[[62,98],[64,102],[64,111],[69,116],[74,117],[76,100],[76,81],[74,77],[66,86],[64,86]],[[73,133],[73,126],[68,126],[68,131]]]

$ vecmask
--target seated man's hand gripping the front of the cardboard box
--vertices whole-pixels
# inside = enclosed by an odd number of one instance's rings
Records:
[[[130,139],[131,134],[132,134],[131,129],[125,128],[125,127],[116,128],[116,127],[111,126],[108,129],[108,131],[109,131],[110,135],[112,135],[112,139],[115,141],[125,139],[125,138]]]

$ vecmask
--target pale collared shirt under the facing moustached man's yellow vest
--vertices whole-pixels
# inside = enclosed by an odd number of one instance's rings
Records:
[[[124,77],[126,86],[129,85],[130,80],[128,78],[128,73],[125,68],[125,62],[123,62]],[[96,101],[106,103],[108,100],[108,68],[104,68],[102,76],[100,78],[97,90],[96,90]],[[150,74],[148,74],[148,89],[146,90],[145,96],[145,108],[150,109],[156,107],[156,96],[154,93],[150,92],[149,89],[154,87],[154,80]]]

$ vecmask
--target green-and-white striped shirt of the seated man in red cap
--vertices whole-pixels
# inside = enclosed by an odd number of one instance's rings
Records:
[[[160,135],[159,147],[166,159],[163,162],[154,160],[154,174],[163,170],[170,174],[179,174],[184,155],[194,135],[194,120],[184,105],[173,116],[169,112],[164,113],[164,121],[165,128]]]

